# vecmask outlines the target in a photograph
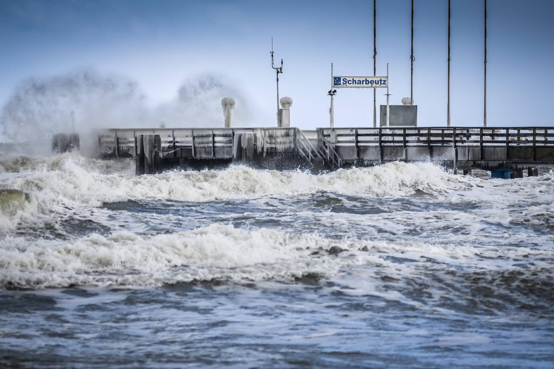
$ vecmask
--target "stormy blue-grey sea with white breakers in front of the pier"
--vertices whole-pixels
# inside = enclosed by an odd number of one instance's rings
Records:
[[[549,168],[0,163],[0,367],[554,367]]]

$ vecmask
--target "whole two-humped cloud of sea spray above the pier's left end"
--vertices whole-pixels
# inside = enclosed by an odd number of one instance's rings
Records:
[[[19,154],[43,156],[55,133],[81,135],[81,150],[94,153],[99,128],[223,127],[222,97],[238,101],[235,122],[259,126],[262,118],[240,82],[204,72],[188,77],[172,101],[147,107],[139,83],[125,75],[84,67],[48,77],[30,77],[16,86],[0,112],[0,141],[25,143]],[[263,125],[263,124],[261,124]],[[12,152],[14,147],[0,151]]]

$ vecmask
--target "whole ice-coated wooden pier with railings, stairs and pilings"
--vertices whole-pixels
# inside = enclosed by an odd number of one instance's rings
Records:
[[[239,162],[318,171],[401,160],[517,178],[523,170],[536,175],[537,165],[554,163],[554,127],[104,129],[99,150],[106,158],[135,158],[137,174],[176,165],[210,168]]]

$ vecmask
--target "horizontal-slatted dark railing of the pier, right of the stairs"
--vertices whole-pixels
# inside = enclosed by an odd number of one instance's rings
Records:
[[[331,147],[342,163],[554,163],[554,127],[317,128],[317,133],[320,150]]]

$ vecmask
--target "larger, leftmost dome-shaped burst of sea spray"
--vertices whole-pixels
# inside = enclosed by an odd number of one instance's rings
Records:
[[[100,127],[148,125],[145,98],[136,81],[93,68],[31,77],[4,103],[0,126],[3,136],[12,141],[42,139],[49,145],[52,134],[73,129],[72,111],[81,134]]]

